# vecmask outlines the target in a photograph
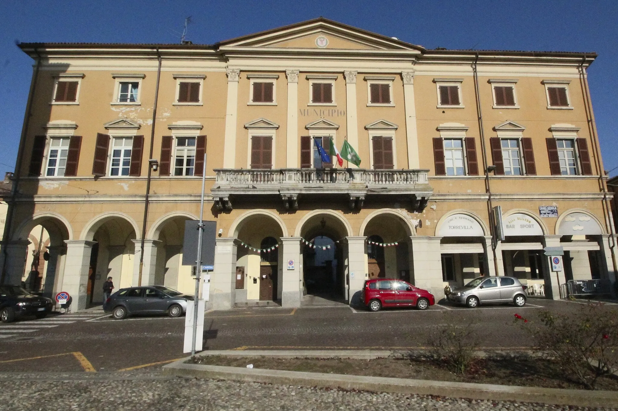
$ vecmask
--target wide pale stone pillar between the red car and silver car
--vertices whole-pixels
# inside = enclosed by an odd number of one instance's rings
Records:
[[[431,292],[436,297],[436,302],[444,298],[441,239],[442,237],[410,237],[414,261],[414,285]]]

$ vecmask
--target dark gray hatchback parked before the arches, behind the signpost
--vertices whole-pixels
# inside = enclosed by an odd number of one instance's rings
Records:
[[[182,294],[164,286],[131,287],[117,290],[103,302],[103,310],[115,320],[133,314],[163,314],[172,318],[187,312],[193,295]]]

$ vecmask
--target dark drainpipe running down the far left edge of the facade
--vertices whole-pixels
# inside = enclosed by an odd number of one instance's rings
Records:
[[[36,53],[36,67],[32,77],[32,83],[30,83],[30,92],[28,93],[28,103],[26,105],[26,114],[23,117],[22,135],[19,139],[19,148],[17,149],[17,161],[15,162],[15,172],[13,175],[13,185],[11,187],[11,201],[7,201],[8,208],[6,212],[6,224],[4,226],[4,232],[2,234],[2,253],[4,254],[4,260],[2,260],[2,275],[0,276],[0,284],[4,284],[6,279],[6,261],[9,258],[9,252],[7,251],[7,242],[11,239],[11,231],[15,220],[15,197],[17,197],[17,186],[19,185],[19,178],[22,174],[22,160],[23,160],[23,146],[25,145],[26,135],[28,133],[28,125],[30,125],[30,117],[32,117],[32,102],[34,100],[34,94],[36,90],[36,81],[38,80],[38,72],[41,68],[41,54],[38,49],[35,49]]]

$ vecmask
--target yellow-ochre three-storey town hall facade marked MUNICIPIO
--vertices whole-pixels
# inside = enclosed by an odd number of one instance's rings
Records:
[[[107,276],[193,294],[184,223],[205,164],[212,308],[353,302],[373,277],[438,299],[480,275],[613,289],[593,53],[431,50],[322,18],[213,45],[20,47],[35,66],[7,282],[43,226],[44,292],[78,308]]]

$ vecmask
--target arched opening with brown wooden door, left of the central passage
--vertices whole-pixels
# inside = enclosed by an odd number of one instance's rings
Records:
[[[236,305],[281,300],[284,229],[269,213],[248,214],[235,224]]]

